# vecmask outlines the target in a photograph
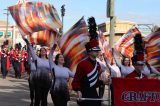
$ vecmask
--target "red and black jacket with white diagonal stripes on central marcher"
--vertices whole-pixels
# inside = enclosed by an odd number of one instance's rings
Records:
[[[81,61],[78,66],[72,81],[72,88],[75,91],[85,88],[96,87],[99,79],[100,64],[94,62],[90,58]]]

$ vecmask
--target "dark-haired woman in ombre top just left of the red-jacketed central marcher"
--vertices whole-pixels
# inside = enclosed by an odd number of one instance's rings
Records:
[[[56,48],[56,44],[50,51],[49,62],[51,70],[55,76],[55,82],[52,85],[51,97],[54,106],[67,106],[67,102],[70,100],[68,79],[74,77],[74,73],[71,72],[67,67],[64,67],[64,57],[62,54],[57,54],[55,62],[53,62],[53,53]]]

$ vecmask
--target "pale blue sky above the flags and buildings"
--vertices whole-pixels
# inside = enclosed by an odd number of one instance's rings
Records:
[[[6,9],[15,5],[18,0],[0,0],[0,20],[6,20]],[[65,4],[64,32],[70,29],[82,16],[86,22],[91,16],[95,17],[96,23],[101,24],[109,21],[106,17],[107,0],[28,0],[41,1],[54,5],[59,16],[61,6]],[[160,0],[115,0],[115,16],[117,20],[132,21],[138,24],[160,24]],[[14,21],[9,16],[9,23]]]

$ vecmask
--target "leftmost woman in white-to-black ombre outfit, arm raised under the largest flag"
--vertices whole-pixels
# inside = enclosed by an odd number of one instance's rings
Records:
[[[26,38],[23,38],[28,46],[29,52],[33,61],[35,61],[36,70],[30,74],[30,83],[32,84],[35,93],[34,106],[47,106],[47,96],[51,87],[50,66],[47,59],[47,50],[42,47],[40,49],[40,56],[38,57]],[[32,71],[32,70],[31,70]],[[33,98],[32,98],[33,99]],[[33,101],[32,101],[33,102]],[[31,103],[33,106],[33,103]]]

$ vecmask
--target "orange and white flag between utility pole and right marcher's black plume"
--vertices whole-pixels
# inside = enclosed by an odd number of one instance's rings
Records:
[[[116,49],[127,57],[133,56],[134,50],[134,36],[138,33],[141,33],[137,27],[131,28],[127,33],[125,33],[119,41],[116,43]]]

